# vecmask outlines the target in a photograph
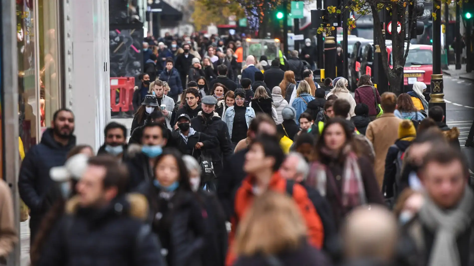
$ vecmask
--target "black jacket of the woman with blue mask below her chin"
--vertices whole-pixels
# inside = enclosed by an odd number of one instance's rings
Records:
[[[166,199],[151,183],[140,187],[150,203],[149,223],[166,250],[168,266],[201,266],[208,235],[203,210],[192,192],[178,188]]]

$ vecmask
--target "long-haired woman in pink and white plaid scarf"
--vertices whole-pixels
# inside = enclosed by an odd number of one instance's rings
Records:
[[[343,118],[332,118],[316,143],[309,186],[326,197],[333,211],[336,228],[354,207],[384,204],[369,160],[360,154],[353,132]]]

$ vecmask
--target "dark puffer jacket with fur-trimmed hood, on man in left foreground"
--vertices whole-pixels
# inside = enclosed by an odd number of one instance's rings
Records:
[[[77,198],[66,205],[44,246],[38,266],[165,266],[161,245],[147,217],[145,197],[119,196],[108,206],[80,208]]]

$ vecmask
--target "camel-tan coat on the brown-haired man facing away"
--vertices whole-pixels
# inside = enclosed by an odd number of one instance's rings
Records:
[[[380,189],[382,189],[385,157],[390,146],[398,139],[398,127],[402,120],[393,113],[384,113],[369,123],[365,136],[372,141],[375,151],[374,172]]]

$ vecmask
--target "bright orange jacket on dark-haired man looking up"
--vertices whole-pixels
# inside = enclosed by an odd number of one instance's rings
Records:
[[[242,185],[237,190],[235,196],[235,215],[231,219],[232,230],[229,233],[229,249],[226,258],[226,266],[232,266],[235,262],[235,254],[232,253],[232,244],[235,237],[235,232],[237,230],[237,224],[242,220],[246,211],[252,206],[254,202],[253,194],[253,183],[254,177],[247,176],[245,180],[242,181]],[[279,172],[273,174],[272,179],[268,185],[269,189],[273,191],[278,191],[281,193],[286,193],[286,180],[280,175]],[[306,221],[306,226],[308,227],[308,236],[310,243],[320,249],[324,240],[324,230],[321,223],[321,218],[319,217],[316,209],[308,198],[308,193],[301,185],[295,184],[293,187],[293,200],[298,205],[301,211],[301,215]]]

